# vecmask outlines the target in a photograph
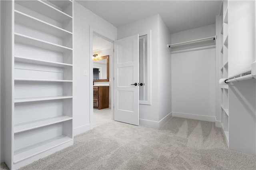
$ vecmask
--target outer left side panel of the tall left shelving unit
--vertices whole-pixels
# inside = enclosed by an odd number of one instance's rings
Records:
[[[7,166],[13,168],[13,111],[14,111],[14,77],[13,77],[13,67],[14,67],[14,3],[13,1],[1,1],[1,24],[3,25],[3,30],[1,30],[1,39],[3,38],[3,49],[4,55],[1,56],[2,67],[4,68],[4,76],[1,77],[3,80],[3,87],[1,91],[1,100],[3,111],[4,111],[4,158]],[[3,18],[2,18],[3,16]],[[3,20],[2,20],[3,19]],[[4,58],[2,58],[4,57]]]

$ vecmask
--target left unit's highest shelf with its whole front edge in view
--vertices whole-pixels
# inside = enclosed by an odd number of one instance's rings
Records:
[[[15,22],[17,23],[26,25],[30,28],[34,28],[36,30],[40,30],[42,32],[46,32],[61,38],[72,35],[72,32],[56,27],[52,24],[49,24],[47,22],[44,22],[42,20],[39,20],[27,14],[24,14],[20,11],[14,10],[14,12],[15,12],[14,13]]]

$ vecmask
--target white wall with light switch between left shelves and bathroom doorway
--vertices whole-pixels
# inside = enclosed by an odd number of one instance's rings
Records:
[[[74,135],[90,129],[90,106],[92,107],[92,51],[90,51],[90,28],[111,40],[116,40],[117,29],[96,14],[74,2],[74,87],[73,128]],[[84,76],[84,70],[87,76]]]

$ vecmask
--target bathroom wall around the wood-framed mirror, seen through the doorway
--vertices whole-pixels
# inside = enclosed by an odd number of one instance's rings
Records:
[[[100,50],[100,51],[95,51],[93,54],[98,54],[98,56],[105,56],[105,55],[109,55],[108,59],[108,63],[109,63],[109,78],[112,75],[112,60],[113,60],[113,55],[112,55],[112,48],[110,49],[104,49],[104,50]],[[104,82],[95,82],[95,84],[102,84],[102,83],[109,83],[109,105],[111,107],[111,78],[109,81],[104,81]]]

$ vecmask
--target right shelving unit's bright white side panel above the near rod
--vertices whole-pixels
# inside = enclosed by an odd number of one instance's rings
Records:
[[[229,1],[228,12],[230,77],[250,69],[255,61],[255,1]]]

